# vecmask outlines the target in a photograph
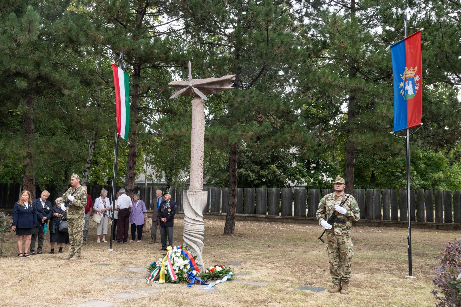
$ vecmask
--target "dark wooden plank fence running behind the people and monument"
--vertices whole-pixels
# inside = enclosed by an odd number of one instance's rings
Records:
[[[0,208],[12,208],[18,201],[20,188],[19,184],[0,184]],[[50,192],[49,200],[52,202],[64,192],[56,191],[53,186],[46,188]],[[103,188],[109,191],[111,197],[112,186],[87,187],[93,200],[100,196]],[[117,191],[119,188],[121,187],[117,186]],[[156,189],[151,186],[135,188],[135,193],[140,194],[148,209],[152,208]],[[229,188],[207,187],[204,190],[208,191],[205,211],[226,213]],[[178,211],[182,211],[182,191],[182,188],[170,188]],[[315,217],[320,198],[332,192],[332,189],[238,188],[236,213]],[[40,193],[40,189],[37,188],[36,197],[39,197]],[[461,191],[411,190],[410,210],[407,209],[407,190],[354,190],[353,196],[359,205],[362,220],[406,221],[409,212],[412,221],[461,223]]]

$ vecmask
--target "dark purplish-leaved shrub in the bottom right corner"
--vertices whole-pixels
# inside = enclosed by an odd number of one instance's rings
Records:
[[[440,266],[435,269],[434,284],[440,288],[432,290],[439,307],[461,306],[461,241],[450,242],[445,250],[435,257]]]

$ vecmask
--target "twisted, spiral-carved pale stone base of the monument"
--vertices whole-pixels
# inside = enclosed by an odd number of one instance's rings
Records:
[[[205,223],[203,211],[207,206],[208,191],[187,190],[183,191],[184,245],[190,247],[190,252],[195,258],[195,263],[201,272],[205,269],[202,259],[203,235],[205,234]]]

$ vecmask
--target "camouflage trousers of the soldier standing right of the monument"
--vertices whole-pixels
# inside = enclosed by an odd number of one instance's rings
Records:
[[[330,274],[333,284],[349,282],[350,260],[354,256],[353,248],[350,235],[335,235],[327,232],[326,253],[330,260]]]

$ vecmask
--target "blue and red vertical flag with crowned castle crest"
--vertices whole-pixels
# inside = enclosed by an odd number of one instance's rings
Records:
[[[421,124],[421,31],[390,46],[390,56],[394,75],[394,132],[397,132]]]

